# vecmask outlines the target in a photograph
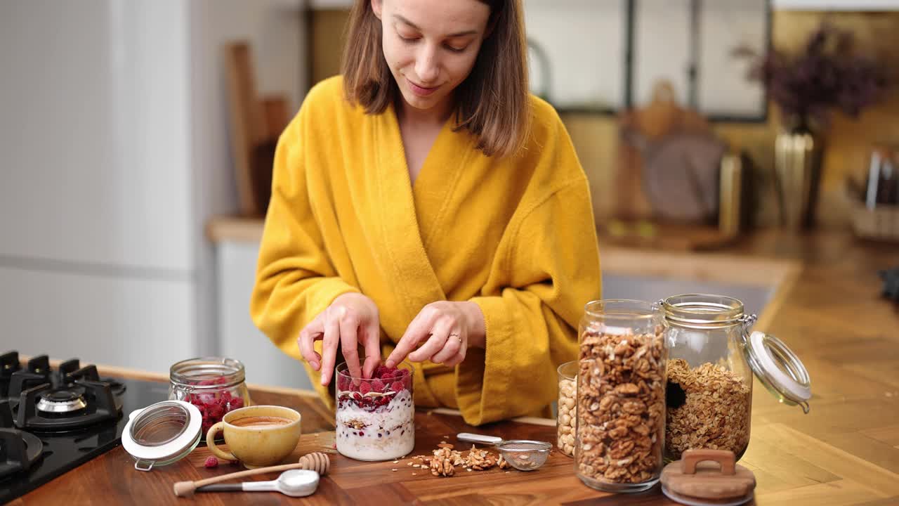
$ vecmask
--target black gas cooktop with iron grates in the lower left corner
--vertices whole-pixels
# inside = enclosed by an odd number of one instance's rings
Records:
[[[2,3],[2,0],[0,0]],[[130,413],[168,398],[168,384],[102,377],[73,358],[0,350],[0,504],[120,446]],[[78,398],[86,407],[76,411]],[[40,502],[40,499],[34,501]]]

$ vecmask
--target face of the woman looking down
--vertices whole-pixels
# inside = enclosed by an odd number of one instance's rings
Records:
[[[448,104],[475,66],[490,7],[478,0],[371,0],[371,8],[406,104],[422,110]]]

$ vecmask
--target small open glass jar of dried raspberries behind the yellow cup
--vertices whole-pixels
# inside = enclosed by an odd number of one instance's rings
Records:
[[[190,402],[200,410],[202,438],[206,438],[206,430],[225,413],[252,404],[244,364],[221,357],[182,360],[169,370],[169,400]]]

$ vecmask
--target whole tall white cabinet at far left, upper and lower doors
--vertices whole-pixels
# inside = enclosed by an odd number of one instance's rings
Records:
[[[0,4],[3,348],[197,353],[188,23],[181,0]]]

